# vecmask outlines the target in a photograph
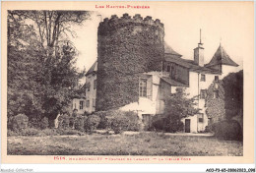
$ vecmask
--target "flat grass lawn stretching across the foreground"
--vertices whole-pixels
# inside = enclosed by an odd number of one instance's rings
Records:
[[[137,135],[8,137],[10,155],[224,155],[243,154],[242,142],[215,137]]]

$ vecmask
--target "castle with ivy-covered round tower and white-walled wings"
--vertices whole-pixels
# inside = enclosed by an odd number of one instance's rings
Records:
[[[205,111],[207,88],[238,65],[222,45],[205,64],[201,38],[194,49],[194,60],[182,58],[163,38],[163,24],[158,19],[140,15],[131,18],[128,14],[104,19],[98,27],[97,61],[87,74],[87,102],[96,100],[93,107],[89,103],[89,112],[136,111],[147,126],[152,116],[163,113],[165,96],[176,87],[186,87],[189,96],[198,96],[201,110],[182,119],[184,132],[204,131],[210,121]]]

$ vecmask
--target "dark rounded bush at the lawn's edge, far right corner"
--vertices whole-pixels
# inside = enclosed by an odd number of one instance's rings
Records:
[[[214,124],[215,136],[223,140],[242,141],[242,128],[235,120],[225,120]]]

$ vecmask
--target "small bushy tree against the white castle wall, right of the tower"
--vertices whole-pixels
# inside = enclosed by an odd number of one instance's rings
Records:
[[[173,133],[183,130],[181,119],[195,115],[199,111],[195,108],[195,99],[196,97],[188,98],[183,87],[177,87],[176,92],[165,99],[165,131]]]

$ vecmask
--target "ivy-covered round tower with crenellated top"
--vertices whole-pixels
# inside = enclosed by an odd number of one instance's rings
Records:
[[[99,24],[96,110],[138,101],[139,75],[161,70],[163,36],[163,24],[149,16],[113,15]]]

